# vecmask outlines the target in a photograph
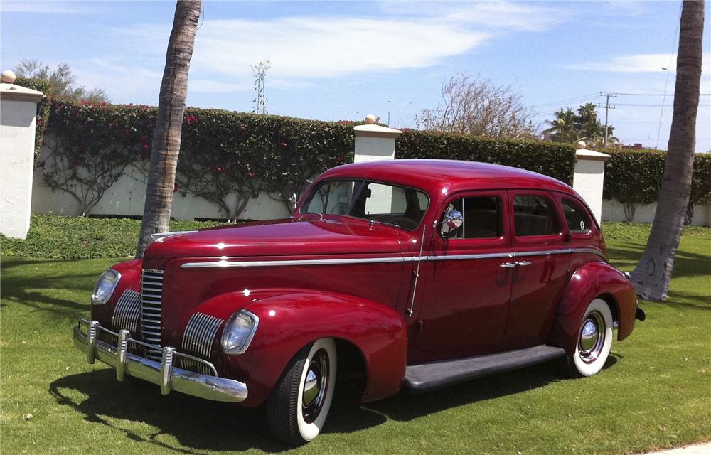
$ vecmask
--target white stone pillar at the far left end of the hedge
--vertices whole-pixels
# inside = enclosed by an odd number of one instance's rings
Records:
[[[30,229],[35,123],[43,97],[36,90],[0,83],[0,232],[7,237],[26,238]]]

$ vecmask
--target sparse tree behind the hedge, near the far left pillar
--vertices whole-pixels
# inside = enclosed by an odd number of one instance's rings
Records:
[[[100,88],[87,90],[85,87],[77,87],[77,76],[66,63],[57,65],[56,70],[51,70],[39,60],[29,59],[14,68],[15,74],[19,77],[46,80],[50,87],[47,95],[58,95],[70,100],[87,100],[91,102],[107,102],[109,97]]]

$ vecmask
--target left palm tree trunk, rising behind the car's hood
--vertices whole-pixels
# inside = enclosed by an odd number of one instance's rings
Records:
[[[188,69],[200,18],[201,0],[178,0],[168,42],[166,67],[158,100],[146,204],[136,257],[143,257],[151,234],[170,228],[176,166],[180,153],[183,112],[188,96]]]

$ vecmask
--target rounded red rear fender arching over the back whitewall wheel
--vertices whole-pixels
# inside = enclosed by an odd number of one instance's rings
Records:
[[[588,304],[595,298],[605,299],[613,308],[619,326],[617,339],[627,338],[634,330],[637,297],[634,287],[616,268],[606,262],[587,262],[570,278],[558,306],[549,344],[575,353],[580,323]]]

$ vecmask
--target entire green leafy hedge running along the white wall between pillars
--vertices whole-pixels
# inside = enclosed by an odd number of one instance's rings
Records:
[[[83,213],[90,213],[128,166],[147,175],[155,107],[51,100],[48,110],[53,139],[38,166],[48,186],[71,194]],[[351,122],[188,108],[176,191],[214,203],[230,220],[240,218],[249,200],[260,193],[290,209],[292,193],[300,193],[308,178],[352,162],[354,147]],[[630,207],[655,201],[665,152],[608,152],[604,197]],[[575,165],[569,144],[417,130],[406,130],[397,139],[395,156],[504,164],[569,185]],[[692,200],[711,200],[711,157],[697,156]]]

